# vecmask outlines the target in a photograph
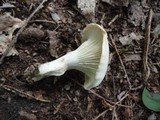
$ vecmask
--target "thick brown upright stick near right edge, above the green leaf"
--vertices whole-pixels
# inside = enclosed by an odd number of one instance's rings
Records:
[[[145,41],[144,41],[144,49],[143,49],[143,80],[147,82],[150,75],[150,68],[148,66],[148,49],[150,44],[150,32],[151,32],[151,22],[153,18],[153,11],[150,9],[148,16],[148,23],[146,25],[145,30]]]

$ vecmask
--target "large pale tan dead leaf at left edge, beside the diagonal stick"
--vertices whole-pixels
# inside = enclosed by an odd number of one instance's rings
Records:
[[[21,21],[18,18],[14,18],[10,14],[0,16],[0,21],[0,55],[2,55],[12,41],[14,31],[17,28],[22,27],[25,21]],[[3,34],[2,32],[5,32],[7,34]],[[14,48],[14,46],[7,56],[11,55],[18,55],[18,52]]]

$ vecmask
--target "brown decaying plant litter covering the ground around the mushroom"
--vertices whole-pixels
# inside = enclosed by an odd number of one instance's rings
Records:
[[[7,19],[6,24],[1,24],[0,21],[0,57],[10,41],[14,41],[10,54],[4,55],[0,64],[0,118],[159,119],[158,112],[144,106],[142,91],[144,86],[152,92],[160,91],[160,2],[125,1],[93,0],[96,2],[91,4],[93,14],[85,14],[85,5],[78,4],[78,0],[1,1],[0,19],[10,13],[12,19],[26,24],[13,30],[16,22]],[[145,29],[150,9],[153,20],[146,54],[150,74],[144,84],[142,54],[145,34],[149,35]],[[81,31],[91,22],[102,25],[109,35],[110,64],[99,86],[85,90],[84,74],[75,70],[34,84],[26,81],[24,72],[29,66],[55,60],[77,49],[81,45]],[[2,43],[2,38],[7,44]],[[15,50],[18,54],[13,54]]]

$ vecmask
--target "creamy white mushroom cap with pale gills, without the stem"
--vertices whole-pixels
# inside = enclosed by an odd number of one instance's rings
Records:
[[[78,70],[85,73],[84,88],[98,86],[105,77],[109,62],[108,36],[103,27],[88,24],[82,31],[82,44],[78,52]]]

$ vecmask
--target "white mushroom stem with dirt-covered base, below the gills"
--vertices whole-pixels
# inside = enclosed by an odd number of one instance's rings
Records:
[[[76,51],[72,51],[56,60],[39,65],[32,80],[35,82],[45,76],[61,76],[68,69],[76,69],[74,67],[77,64],[76,56]]]

